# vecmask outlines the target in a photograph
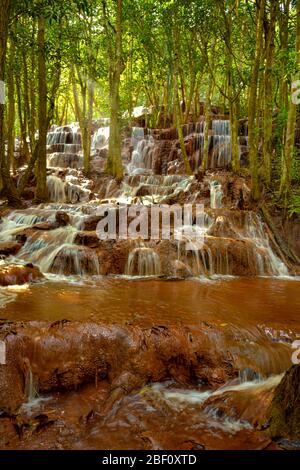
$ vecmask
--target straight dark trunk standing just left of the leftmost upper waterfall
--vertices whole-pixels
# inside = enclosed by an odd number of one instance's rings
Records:
[[[47,143],[47,81],[46,81],[46,54],[45,54],[45,19],[40,16],[38,20],[38,84],[39,84],[39,142],[38,159],[36,165],[37,186],[35,198],[42,202],[47,199],[47,169],[46,169],[46,143]]]

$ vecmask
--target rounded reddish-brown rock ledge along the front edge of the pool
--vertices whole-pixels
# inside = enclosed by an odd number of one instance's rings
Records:
[[[2,331],[7,364],[0,369],[0,408],[21,404],[29,371],[41,393],[76,389],[94,383],[95,377],[107,379],[111,403],[149,382],[201,380],[214,388],[237,376],[205,325],[143,329],[61,321],[2,324]]]

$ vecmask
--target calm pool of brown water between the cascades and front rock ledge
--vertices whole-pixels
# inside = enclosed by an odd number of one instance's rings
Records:
[[[300,282],[276,278],[162,281],[101,278],[4,288],[8,320],[197,325],[200,321],[300,331]]]

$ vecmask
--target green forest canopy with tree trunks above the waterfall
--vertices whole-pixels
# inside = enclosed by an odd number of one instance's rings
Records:
[[[299,0],[1,0],[0,28],[1,186],[11,202],[26,185],[26,175],[18,187],[11,179],[15,137],[43,201],[53,123],[79,123],[88,174],[92,121],[110,117],[107,172],[121,179],[121,129],[135,107],[149,110],[147,127],[177,127],[183,148],[181,126],[200,114],[209,121],[218,106],[230,119],[237,173],[247,119],[253,199],[271,188],[300,213]]]

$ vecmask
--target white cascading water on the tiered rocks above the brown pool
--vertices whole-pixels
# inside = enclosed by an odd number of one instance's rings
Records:
[[[188,137],[191,133],[204,135],[205,123],[203,120],[196,124],[184,126],[184,135]],[[157,147],[155,131],[150,134],[142,127],[132,129],[132,161],[128,165],[129,175],[125,176],[122,186],[110,180],[106,187],[107,197],[113,196],[115,203],[139,202],[148,206],[156,203],[173,204],[178,198],[184,200],[185,193],[191,201],[193,195],[193,185],[198,184],[194,176],[184,176],[178,174],[155,175],[153,174],[153,152]],[[107,144],[109,137],[109,127],[99,128],[92,141],[92,148],[99,150]],[[214,155],[213,166],[226,165],[231,158],[230,149],[230,122],[228,120],[214,119],[211,121],[210,138],[210,164]],[[200,139],[200,140],[201,140]],[[71,154],[79,150],[81,137],[78,126],[64,126],[53,128],[48,134],[48,151],[55,151],[61,154]],[[202,143],[201,143],[202,142]],[[200,151],[203,151],[203,140],[199,141]],[[53,147],[54,146],[54,147]],[[77,146],[72,147],[72,146]],[[200,152],[201,153],[201,152]],[[49,153],[49,155],[52,155]],[[200,155],[201,156],[201,155]],[[201,159],[199,159],[200,162]],[[49,162],[48,162],[49,163]],[[64,166],[64,161],[59,161]],[[72,166],[72,165],[70,165]],[[71,203],[80,208],[80,205],[89,203],[93,195],[91,192],[91,181],[83,178],[79,170],[65,168],[51,170],[52,174],[47,177],[47,187],[49,198],[54,203]],[[226,204],[223,198],[222,184],[217,179],[210,178],[210,207],[212,210],[220,211]],[[203,188],[204,189],[204,188]],[[197,192],[201,200],[200,189]],[[103,196],[102,196],[103,197]],[[205,196],[206,197],[206,196]],[[195,199],[196,201],[196,199]],[[50,208],[49,208],[50,207]],[[74,206],[75,207],[75,206]],[[60,210],[60,209],[57,209]],[[81,221],[84,215],[76,213],[76,221],[70,207],[65,210],[70,223],[67,227],[52,227],[51,230],[34,230],[26,233],[26,242],[18,252],[16,259],[22,262],[37,264],[43,272],[68,273],[68,274],[99,274],[98,257],[92,248],[78,246],[75,243],[76,236],[80,230]],[[50,214],[47,213],[50,211]],[[2,230],[0,237],[3,241],[15,241],[19,233],[27,228],[33,227],[39,222],[55,222],[54,205],[41,207],[36,212],[34,210],[14,211],[2,220]],[[268,237],[264,233],[262,223],[256,220],[255,216],[247,216],[243,229],[233,227],[224,233],[207,233],[213,223],[222,225],[219,218],[212,217],[209,224],[204,224],[200,229],[190,224],[191,237],[187,236],[185,230],[185,249],[178,248],[178,257],[173,261],[186,264],[194,275],[212,276],[214,274],[234,274],[234,265],[240,263],[245,265],[243,274],[259,275],[287,275],[287,268],[276,257],[269,244]],[[226,221],[226,216],[222,216]],[[225,222],[224,222],[225,223]],[[46,224],[47,225],[47,224]],[[226,224],[225,224],[226,225]],[[227,227],[228,228],[228,227]],[[193,231],[195,229],[203,231],[204,245],[201,249],[195,249],[193,244]],[[240,232],[240,233],[239,233]],[[84,239],[84,234],[79,237],[78,243]],[[246,243],[241,240],[245,239]],[[190,249],[189,249],[190,248]],[[162,254],[159,254],[148,247],[140,246],[134,248],[128,257],[126,271],[130,275],[160,275],[162,273]]]

